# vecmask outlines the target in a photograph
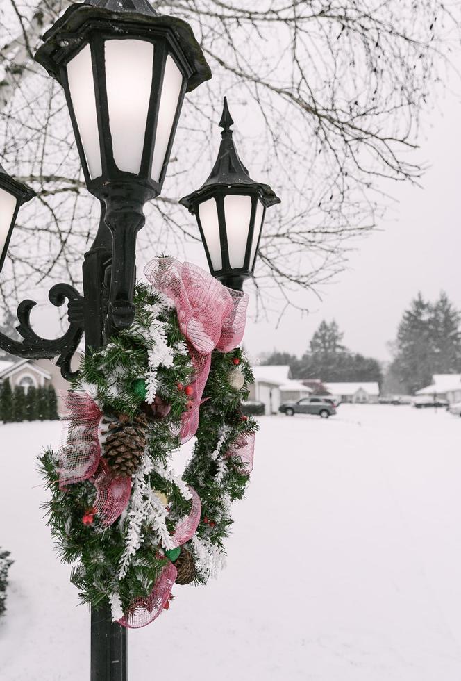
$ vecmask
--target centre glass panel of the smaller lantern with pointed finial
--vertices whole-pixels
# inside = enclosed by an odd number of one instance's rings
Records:
[[[245,264],[246,243],[251,220],[251,196],[231,194],[224,199],[229,265],[232,269]]]

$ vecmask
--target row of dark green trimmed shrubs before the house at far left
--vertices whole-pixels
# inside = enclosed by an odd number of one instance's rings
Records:
[[[58,419],[58,401],[53,386],[43,388],[16,386],[11,389],[10,381],[0,384],[0,421],[44,421]]]

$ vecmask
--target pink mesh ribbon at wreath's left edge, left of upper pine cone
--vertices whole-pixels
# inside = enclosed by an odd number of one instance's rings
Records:
[[[69,425],[58,452],[59,486],[82,482],[96,473],[101,459],[98,427],[102,413],[87,393],[67,393]]]

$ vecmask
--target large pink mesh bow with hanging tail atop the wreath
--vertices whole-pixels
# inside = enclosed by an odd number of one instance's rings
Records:
[[[196,265],[174,258],[156,258],[144,270],[147,279],[176,305],[181,332],[187,338],[195,370],[194,395],[183,415],[181,442],[196,434],[199,409],[210,373],[213,350],[229,352],[245,331],[248,295],[223,286]]]

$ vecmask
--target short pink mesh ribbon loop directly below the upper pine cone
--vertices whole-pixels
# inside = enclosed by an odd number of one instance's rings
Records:
[[[101,525],[110,527],[128,506],[131,477],[114,477],[107,461],[101,459],[92,483],[96,487],[94,511],[99,515]]]

